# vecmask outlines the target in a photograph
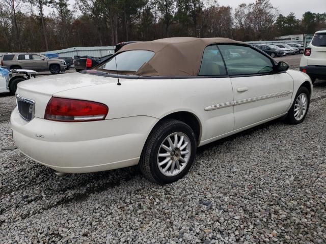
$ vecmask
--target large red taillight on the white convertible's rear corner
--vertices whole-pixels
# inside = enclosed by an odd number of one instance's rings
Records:
[[[94,121],[106,117],[108,107],[102,103],[52,97],[45,109],[45,119],[64,122]]]

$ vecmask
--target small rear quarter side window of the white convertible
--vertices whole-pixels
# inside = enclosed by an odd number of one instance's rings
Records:
[[[216,45],[205,48],[199,75],[226,75],[223,59]]]

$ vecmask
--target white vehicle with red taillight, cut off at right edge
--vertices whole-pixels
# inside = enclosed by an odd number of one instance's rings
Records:
[[[301,57],[300,71],[308,74],[312,82],[316,78],[326,79],[326,29],[316,32],[305,48]]]

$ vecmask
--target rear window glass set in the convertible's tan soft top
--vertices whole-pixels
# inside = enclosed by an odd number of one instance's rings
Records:
[[[137,71],[153,56],[154,52],[147,50],[120,52],[96,68],[105,71],[112,71],[111,73],[119,72],[122,74],[132,75],[137,73]]]

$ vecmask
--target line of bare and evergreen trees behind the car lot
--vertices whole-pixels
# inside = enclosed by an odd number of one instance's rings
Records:
[[[45,13],[45,8],[51,11]],[[239,41],[313,34],[326,13],[279,14],[269,0],[235,9],[214,0],[0,0],[0,52],[107,46],[166,37]]]

